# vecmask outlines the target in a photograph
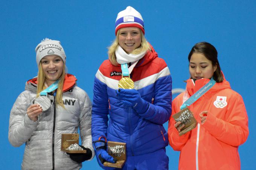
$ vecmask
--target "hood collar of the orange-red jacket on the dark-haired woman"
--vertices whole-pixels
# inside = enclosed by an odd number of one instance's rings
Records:
[[[223,81],[221,83],[216,83],[209,92],[216,92],[222,89],[231,89],[229,82],[225,79],[224,74],[223,75]],[[206,85],[210,79],[208,78],[202,78],[200,80],[196,80],[194,83],[194,80],[189,79],[187,80],[187,86],[186,90],[189,93],[190,96],[194,95],[195,92],[197,92],[201,87]]]

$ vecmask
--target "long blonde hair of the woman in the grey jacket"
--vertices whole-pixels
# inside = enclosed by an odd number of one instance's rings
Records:
[[[65,108],[64,104],[63,104],[63,100],[62,100],[62,89],[63,89],[63,84],[64,84],[64,79],[65,79],[65,75],[66,75],[66,71],[65,71],[65,63],[63,63],[63,71],[62,71],[62,75],[59,78],[59,84],[58,84],[58,89],[56,92],[56,97],[55,97],[55,102],[60,105],[61,107]],[[46,87],[44,86],[44,80],[45,80],[45,75],[42,69],[42,64],[41,62],[39,63],[39,68],[38,68],[38,75],[37,75],[37,97],[39,97],[40,92],[43,91],[44,89],[46,89]]]

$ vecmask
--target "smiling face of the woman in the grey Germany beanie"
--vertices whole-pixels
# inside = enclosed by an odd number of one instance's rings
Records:
[[[56,55],[45,56],[41,60],[41,65],[48,86],[61,77],[64,67],[61,57]]]

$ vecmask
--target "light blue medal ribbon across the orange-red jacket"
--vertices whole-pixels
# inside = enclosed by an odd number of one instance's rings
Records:
[[[192,105],[195,101],[197,101],[201,96],[204,95],[204,93],[206,93],[208,90],[210,90],[214,84],[216,83],[215,80],[213,80],[213,78],[211,78],[211,80],[204,85],[203,87],[201,87],[201,89],[199,89],[197,92],[194,93],[194,95],[192,95],[189,99],[187,99],[180,107],[180,110],[182,110],[183,108],[186,108],[190,105]]]

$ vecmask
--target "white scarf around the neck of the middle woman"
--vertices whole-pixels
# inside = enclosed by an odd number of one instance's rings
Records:
[[[142,57],[145,56],[147,51],[142,51],[140,54],[127,54],[120,45],[116,49],[116,61],[119,64],[124,63],[133,63],[139,61]]]

